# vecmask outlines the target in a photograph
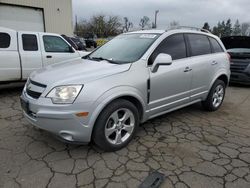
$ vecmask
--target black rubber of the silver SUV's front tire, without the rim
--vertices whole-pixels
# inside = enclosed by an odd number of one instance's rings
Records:
[[[110,120],[110,117],[112,116],[113,113],[119,111],[119,109],[128,109],[130,110],[130,112],[132,112],[134,116],[133,118],[134,128],[126,141],[120,144],[112,144],[110,143],[110,141],[108,141],[108,138],[106,138],[105,130],[106,126],[108,126],[108,121]],[[133,139],[136,130],[138,128],[138,125],[139,125],[139,113],[135,105],[127,100],[117,99],[111,102],[108,106],[106,106],[100,113],[94,126],[92,140],[100,149],[104,151],[117,151],[127,146],[128,143]]]

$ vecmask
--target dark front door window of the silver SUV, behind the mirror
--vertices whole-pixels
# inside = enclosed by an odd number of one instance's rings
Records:
[[[149,65],[152,65],[158,54],[165,53],[172,56],[173,60],[187,57],[186,44],[183,34],[169,36],[155,49],[149,58]]]

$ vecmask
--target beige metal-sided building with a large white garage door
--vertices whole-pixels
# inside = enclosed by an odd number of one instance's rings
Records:
[[[72,0],[0,0],[0,27],[73,35]]]

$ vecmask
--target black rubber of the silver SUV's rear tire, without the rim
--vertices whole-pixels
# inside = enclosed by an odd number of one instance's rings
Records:
[[[213,103],[213,100],[214,100],[213,96],[216,91],[216,88],[220,86],[223,88],[223,95],[222,95],[222,100],[220,104],[219,105],[217,104],[218,105],[217,106],[217,105],[214,105]],[[218,110],[224,101],[225,93],[226,93],[225,82],[223,82],[222,80],[216,80],[207,96],[207,99],[205,101],[202,101],[202,106],[204,107],[205,110],[210,111],[210,112]]]

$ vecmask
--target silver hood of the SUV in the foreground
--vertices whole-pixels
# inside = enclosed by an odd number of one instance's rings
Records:
[[[129,64],[111,64],[106,61],[77,59],[47,66],[30,75],[30,79],[46,85],[84,84],[129,70]]]

